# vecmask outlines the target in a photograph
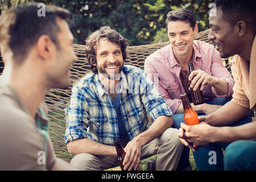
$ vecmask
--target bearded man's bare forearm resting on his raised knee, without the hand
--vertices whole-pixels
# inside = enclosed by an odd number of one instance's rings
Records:
[[[152,123],[148,130],[144,131],[134,139],[141,143],[141,146],[151,142],[153,139],[159,137],[166,129],[172,126],[172,117],[160,115]]]

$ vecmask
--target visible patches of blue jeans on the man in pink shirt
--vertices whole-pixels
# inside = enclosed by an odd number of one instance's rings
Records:
[[[215,100],[212,100],[212,101],[209,101],[206,103],[211,104],[211,105],[225,105],[231,99],[232,99],[232,97],[216,98]],[[204,115],[204,113],[198,113],[198,115]],[[183,117],[184,117],[184,114],[174,114],[172,127],[175,129],[179,129],[180,123],[184,122]],[[180,159],[180,163],[178,163],[177,170],[181,170],[189,165],[190,165],[189,164],[189,148],[184,146],[184,150],[181,154],[181,159]]]

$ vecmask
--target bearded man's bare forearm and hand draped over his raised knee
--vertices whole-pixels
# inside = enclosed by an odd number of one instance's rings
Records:
[[[124,169],[137,168],[140,162],[141,147],[159,137],[168,127],[172,126],[172,122],[172,117],[160,115],[148,130],[133,138],[124,148],[126,152]]]

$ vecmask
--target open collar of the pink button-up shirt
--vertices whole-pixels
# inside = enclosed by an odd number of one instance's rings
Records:
[[[193,55],[192,55],[192,61],[197,61],[197,57],[202,57],[201,53],[200,53],[200,48],[195,44],[193,43]],[[175,65],[178,64],[175,56],[174,56],[174,53],[173,53],[173,48],[172,48],[172,45],[170,44],[169,45],[169,64],[170,64],[170,67],[174,67]]]

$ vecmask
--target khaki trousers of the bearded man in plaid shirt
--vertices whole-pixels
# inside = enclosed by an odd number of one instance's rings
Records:
[[[157,154],[157,171],[176,170],[183,148],[178,138],[178,130],[169,128],[162,135],[141,147],[141,159]],[[82,170],[103,170],[119,166],[117,156],[99,156],[88,153],[76,155],[70,164]]]

